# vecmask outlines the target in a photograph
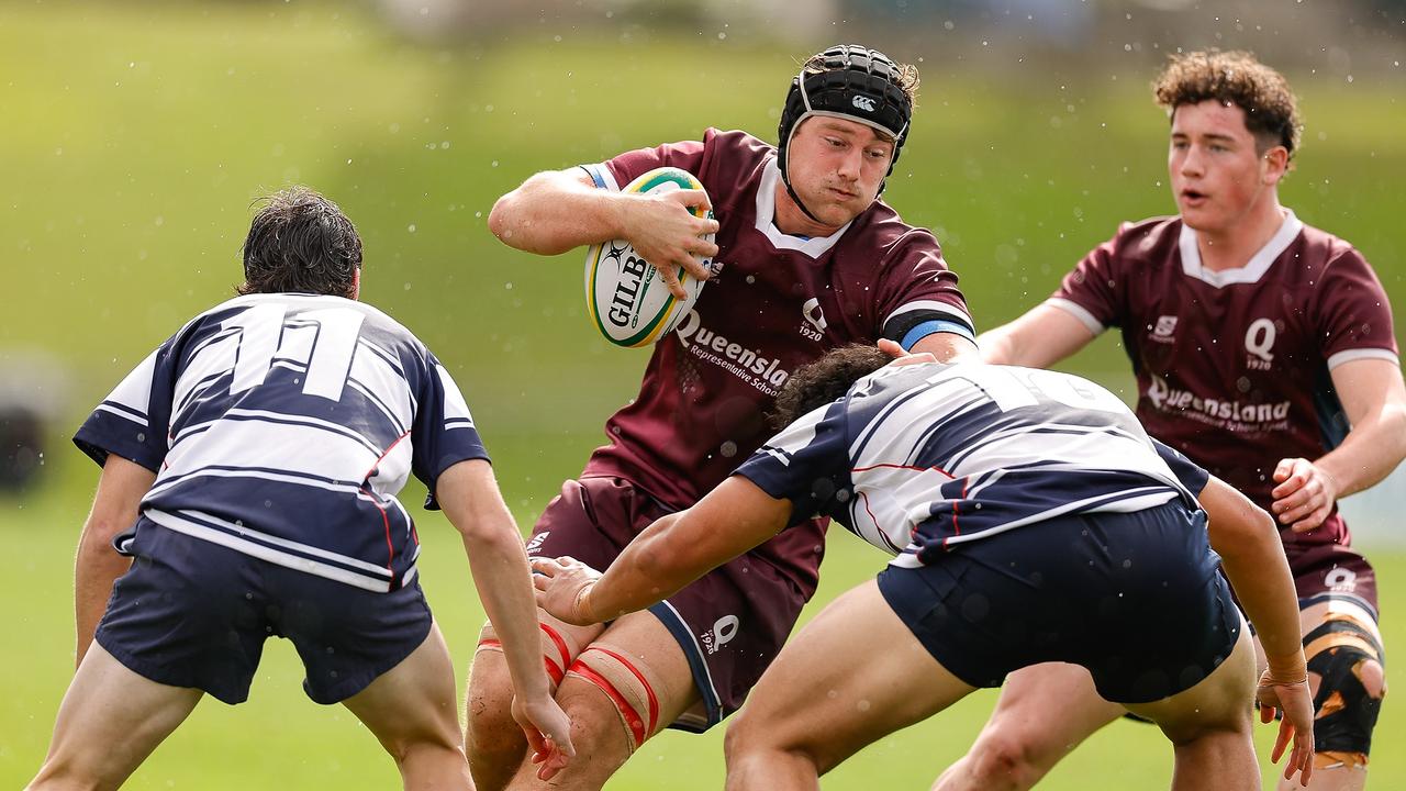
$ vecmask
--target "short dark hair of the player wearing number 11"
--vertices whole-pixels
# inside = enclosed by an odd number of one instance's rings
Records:
[[[245,239],[240,294],[356,297],[361,238],[337,204],[294,186],[262,198]]]

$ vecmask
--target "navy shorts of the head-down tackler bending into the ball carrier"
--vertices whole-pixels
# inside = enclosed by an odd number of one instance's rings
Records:
[[[889,566],[879,590],[973,687],[1069,662],[1104,698],[1139,704],[1194,687],[1230,656],[1241,621],[1218,567],[1205,515],[1173,501],[1039,522],[921,569]]]

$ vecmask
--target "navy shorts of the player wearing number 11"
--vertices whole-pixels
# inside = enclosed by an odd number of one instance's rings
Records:
[[[302,688],[319,704],[364,690],[425,638],[432,618],[419,580],[373,593],[276,566],[169,531],[146,518],[132,567],[112,587],[97,642],[134,673],[249,698],[263,643],[287,638],[302,657]]]

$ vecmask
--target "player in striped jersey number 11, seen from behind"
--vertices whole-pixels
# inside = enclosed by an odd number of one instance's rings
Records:
[[[560,767],[569,723],[538,664],[527,557],[464,397],[356,301],[361,239],[332,201],[271,196],[243,258],[243,296],[162,343],[75,436],[103,464],[75,574],[79,669],[30,788],[117,788],[202,695],[249,697],[269,635],[406,788],[470,787],[453,664],[395,500],[412,472],[463,533],[513,716]]]

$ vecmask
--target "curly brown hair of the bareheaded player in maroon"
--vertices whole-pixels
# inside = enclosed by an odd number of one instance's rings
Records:
[[[1284,75],[1250,52],[1208,49],[1173,55],[1153,91],[1157,104],[1170,113],[1206,100],[1244,110],[1244,125],[1260,142],[1261,153],[1282,145],[1292,159],[1299,148],[1303,122],[1294,90]]]

